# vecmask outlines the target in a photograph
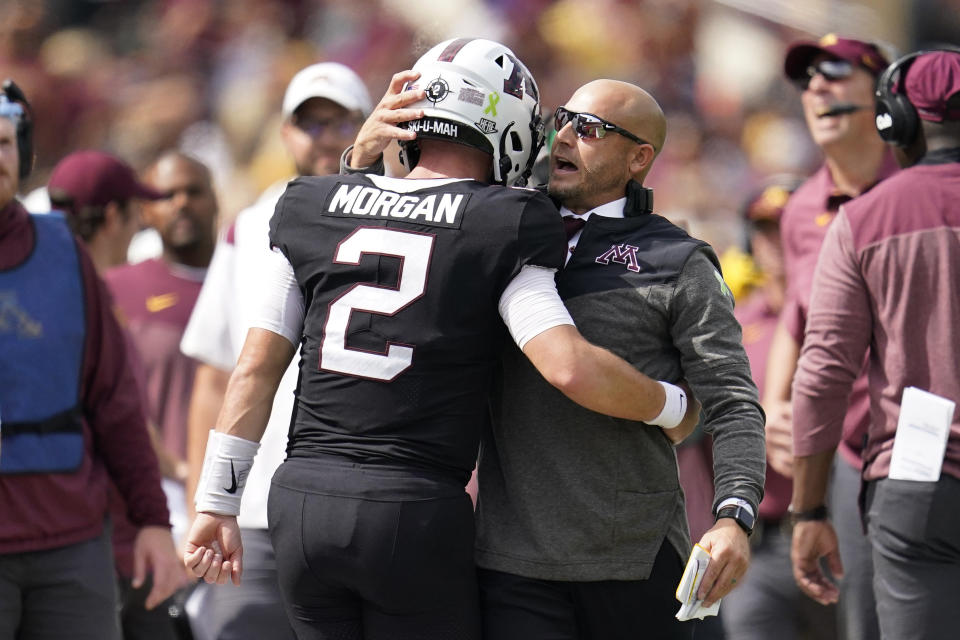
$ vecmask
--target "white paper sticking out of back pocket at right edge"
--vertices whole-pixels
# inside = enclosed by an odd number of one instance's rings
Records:
[[[916,387],[903,390],[888,477],[936,482],[950,436],[955,404]]]

